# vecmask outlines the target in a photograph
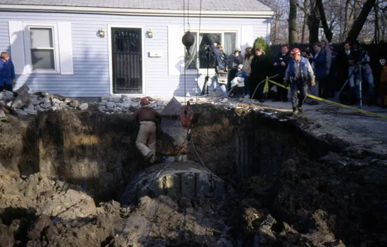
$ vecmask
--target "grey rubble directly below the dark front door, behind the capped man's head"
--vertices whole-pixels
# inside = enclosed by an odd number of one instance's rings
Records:
[[[148,97],[149,107],[154,108],[155,110],[163,110],[165,107],[165,103],[162,100],[155,100]],[[107,114],[113,113],[132,113],[137,108],[140,107],[140,99],[139,98],[131,98],[126,95],[122,95],[121,97],[110,96],[110,97],[102,97],[101,102],[99,102],[99,111]]]

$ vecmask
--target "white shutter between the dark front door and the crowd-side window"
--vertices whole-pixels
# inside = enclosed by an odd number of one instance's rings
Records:
[[[168,75],[180,75],[184,70],[184,45],[178,25],[168,26]]]

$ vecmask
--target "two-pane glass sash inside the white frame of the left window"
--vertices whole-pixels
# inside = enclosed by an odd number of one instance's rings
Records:
[[[55,70],[52,27],[30,27],[32,70]]]

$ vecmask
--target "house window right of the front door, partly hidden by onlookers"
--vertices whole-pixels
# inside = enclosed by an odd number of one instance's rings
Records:
[[[186,69],[215,68],[215,54],[209,48],[212,43],[222,44],[228,56],[236,47],[236,32],[191,32],[195,37],[194,44],[186,51]]]

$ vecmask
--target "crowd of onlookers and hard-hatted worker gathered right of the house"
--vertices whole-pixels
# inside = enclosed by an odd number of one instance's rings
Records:
[[[369,66],[370,58],[359,42],[345,42],[342,51],[337,52],[332,43],[315,42],[312,51],[309,48],[289,49],[287,44],[281,45],[281,51],[270,59],[260,46],[248,47],[241,55],[241,49],[235,49],[230,56],[224,54],[220,44],[212,44],[215,52],[215,77],[212,78],[214,91],[220,84],[223,96],[235,96],[267,99],[264,83],[267,76],[275,75],[272,80],[279,84],[291,85],[291,101],[293,111],[302,110],[306,94],[319,96],[323,99],[341,95],[341,101],[347,104],[357,103],[362,97],[360,84],[365,88],[366,99],[374,97],[374,78]],[[219,72],[227,74],[227,80],[220,81]],[[227,71],[227,73],[226,73]],[[297,90],[301,92],[298,100]],[[253,92],[256,93],[252,95]],[[296,97],[296,99],[295,99]],[[287,102],[288,90],[277,87],[274,101]],[[318,101],[308,101],[318,104]]]

